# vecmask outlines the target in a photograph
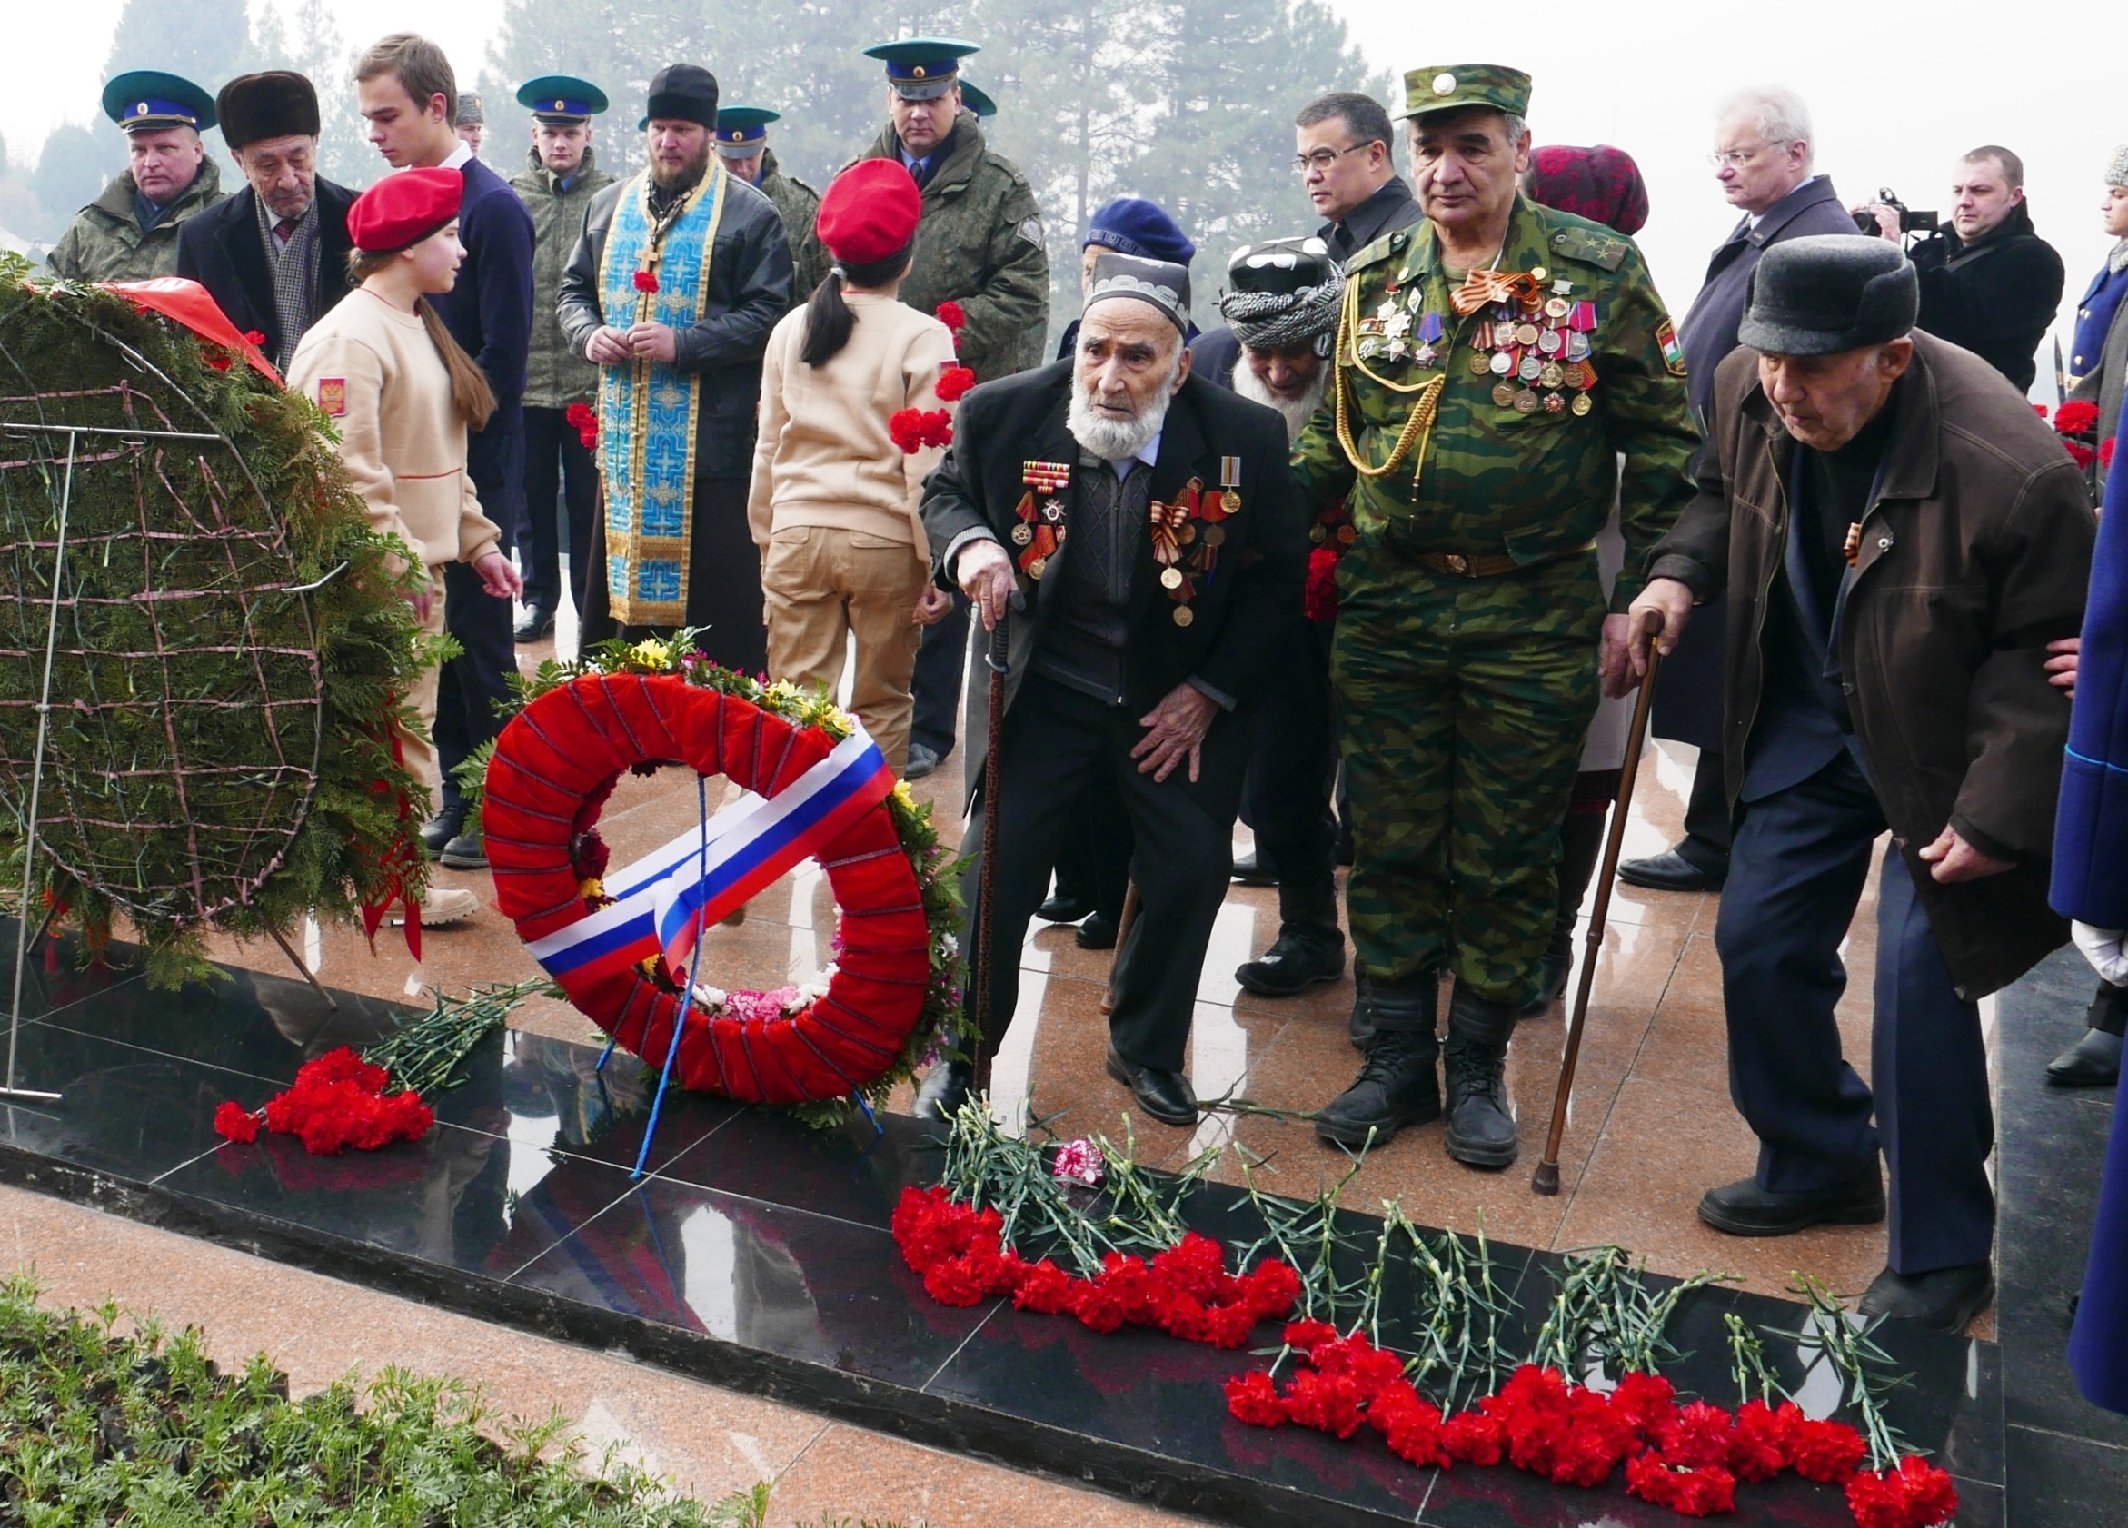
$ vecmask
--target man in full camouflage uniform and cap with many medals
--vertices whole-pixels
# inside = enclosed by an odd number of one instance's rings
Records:
[[[1296,443],[1317,506],[1347,500],[1332,681],[1358,862],[1347,907],[1370,979],[1358,1081],[1315,1132],[1341,1145],[1443,1113],[1447,1149],[1515,1160],[1502,1064],[1556,917],[1560,821],[1602,662],[1596,532],[1619,498],[1626,572],[1692,496],[1683,355],[1632,240],[1517,194],[1530,77],[1404,77],[1426,221],[1349,266],[1332,398]],[[1624,479],[1619,479],[1624,455]]]

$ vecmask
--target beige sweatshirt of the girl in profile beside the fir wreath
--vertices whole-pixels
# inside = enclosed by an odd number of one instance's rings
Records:
[[[302,336],[287,385],[338,426],[340,462],[377,532],[400,536],[430,568],[498,549],[502,532],[466,475],[451,372],[419,313],[349,292]]]

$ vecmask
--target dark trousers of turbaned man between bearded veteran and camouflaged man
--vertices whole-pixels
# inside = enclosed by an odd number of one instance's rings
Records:
[[[1336,704],[1330,692],[1330,634],[1326,621],[1279,649],[1256,702],[1256,743],[1243,821],[1256,830],[1258,862],[1296,894],[1336,894]],[[1298,907],[1300,902],[1294,900]],[[1332,902],[1334,904],[1334,902]],[[1328,932],[1336,932],[1330,924]]]

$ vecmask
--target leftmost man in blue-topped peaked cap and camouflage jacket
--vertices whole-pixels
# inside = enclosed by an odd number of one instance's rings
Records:
[[[74,213],[47,264],[68,281],[177,275],[177,230],[226,200],[200,130],[215,98],[179,74],[136,68],[104,85],[104,115],[126,130],[128,168]]]

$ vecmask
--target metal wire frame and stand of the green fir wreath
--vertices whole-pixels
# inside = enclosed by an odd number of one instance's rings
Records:
[[[260,583],[257,564],[266,562],[270,553],[281,553],[287,560],[285,534],[279,530],[277,519],[266,504],[266,494],[251,468],[245,464],[243,453],[219,430],[206,409],[200,406],[192,394],[187,394],[177,381],[172,381],[162,368],[140,355],[134,347],[126,345],[117,336],[109,334],[100,326],[85,321],[92,334],[96,334],[104,345],[117,351],[132,368],[143,377],[160,383],[172,400],[181,400],[189,406],[204,430],[179,430],[174,421],[164,411],[162,402],[147,389],[136,387],[128,381],[119,381],[109,387],[83,387],[83,389],[60,389],[60,392],[26,392],[9,394],[0,392],[0,521],[9,534],[9,543],[0,545],[0,555],[15,562],[15,587],[32,589],[43,583],[49,594],[34,604],[45,607],[45,643],[43,653],[34,653],[28,647],[9,647],[0,638],[0,662],[23,662],[32,664],[40,660],[43,672],[38,681],[36,700],[13,700],[0,698],[0,711],[30,707],[36,715],[36,743],[28,760],[9,758],[4,745],[4,732],[0,732],[0,768],[9,775],[28,773],[28,792],[19,809],[21,821],[21,845],[23,845],[23,879],[21,879],[21,904],[17,917],[15,934],[15,975],[13,975],[13,996],[9,1004],[9,1047],[6,1047],[6,1079],[0,1085],[0,1096],[6,1098],[36,1098],[53,1100],[57,1094],[17,1087],[17,1045],[21,1030],[21,985],[23,968],[28,962],[30,945],[34,943],[30,934],[30,909],[36,896],[36,853],[43,847],[45,856],[72,875],[83,885],[96,887],[100,894],[109,896],[128,909],[157,909],[168,913],[172,900],[189,900],[183,909],[185,919],[209,919],[215,913],[243,904],[264,881],[270,877],[287,853],[287,845],[300,832],[304,817],[311,809],[311,800],[319,777],[319,755],[323,749],[323,670],[317,651],[317,626],[311,611],[311,600],[306,598],[323,581],[287,585],[287,583]],[[30,370],[21,360],[0,343],[0,358],[13,368],[17,377],[30,381]],[[34,387],[34,383],[30,383]],[[115,404],[117,415],[126,423],[62,423],[49,417],[49,404],[60,400],[106,400]],[[11,413],[26,411],[34,417],[9,417]],[[153,411],[153,421],[138,421],[140,411]],[[64,449],[62,443],[64,441]],[[26,455],[13,455],[6,447],[11,443],[28,443]],[[189,447],[189,462],[172,460],[172,453],[185,443]],[[192,445],[200,443],[200,445]],[[221,513],[226,494],[221,479],[217,477],[209,449],[219,447],[217,455],[226,455],[236,464],[243,475],[243,485],[234,492],[249,492],[262,506],[268,509],[266,524],[270,530],[247,530],[232,526]],[[72,551],[77,555],[89,553],[89,547],[79,545],[83,541],[102,543],[104,566],[113,562],[115,549],[126,541],[134,541],[140,547],[140,568],[143,568],[143,592],[128,600],[119,600],[109,594],[83,594],[81,585],[68,589],[68,534],[70,534],[70,513],[74,504],[74,481],[79,472],[98,470],[106,466],[130,466],[134,472],[134,502],[138,509],[138,530],[130,534],[100,534],[100,536],[79,536]],[[177,477],[196,472],[200,485],[200,498],[189,498],[177,481],[172,481],[172,470]],[[43,502],[49,506],[47,524],[38,526],[38,513],[30,509],[30,498],[21,498],[13,492],[13,485],[21,481],[19,472],[30,472],[45,487]],[[57,494],[51,492],[51,479],[57,475]],[[166,504],[174,506],[183,519],[179,524],[157,524],[149,515],[151,494],[149,481],[164,489]],[[49,543],[43,538],[49,534]],[[168,562],[170,549],[177,543],[198,543],[204,538],[211,543],[221,562],[228,566],[234,587],[211,587],[211,589],[157,589],[153,587],[157,566]],[[168,543],[168,547],[164,547]],[[249,560],[240,551],[243,547],[255,547],[255,555]],[[49,551],[49,570],[40,562],[38,553]],[[164,555],[157,555],[162,551]],[[334,570],[338,572],[338,570]],[[328,579],[334,575],[326,575]],[[272,696],[266,683],[264,666],[260,664],[260,649],[247,641],[185,647],[187,653],[232,653],[251,655],[253,675],[260,679],[260,694],[247,698],[226,698],[226,696],[192,696],[179,698],[168,694],[168,664],[172,658],[172,647],[166,643],[164,634],[177,621],[185,619],[185,602],[221,602],[236,598],[243,609],[240,632],[251,630],[253,602],[266,596],[294,596],[302,613],[302,630],[306,645],[302,649],[275,649],[277,658],[296,660],[298,668],[309,677],[306,696]],[[140,602],[149,609],[149,626],[153,632],[153,647],[145,651],[111,651],[106,647],[92,645],[92,632],[87,626],[94,621],[96,607],[115,602]],[[32,604],[32,600],[23,600]],[[64,619],[62,619],[64,617]],[[62,647],[60,630],[62,624],[70,624],[74,645]],[[81,792],[70,790],[68,779],[53,779],[55,792],[62,796],[62,811],[45,811],[45,783],[49,770],[49,745],[51,745],[51,687],[53,672],[62,658],[77,660],[83,675],[92,670],[92,660],[117,660],[128,666],[128,677],[134,668],[143,668],[151,675],[160,675],[166,683],[157,685],[153,694],[128,694],[128,698],[106,698],[102,694],[74,696],[70,700],[72,709],[104,719],[111,713],[160,713],[164,719],[164,736],[170,741],[170,758],[153,766],[153,770],[128,770],[117,768],[89,768],[89,777],[100,777],[109,790],[109,798],[119,800],[121,817],[113,821],[111,817],[96,815],[100,802],[85,800]],[[66,698],[62,698],[66,704]],[[187,762],[181,753],[177,732],[168,726],[168,711],[172,704],[198,704],[219,711],[255,709],[266,713],[264,736],[270,738],[272,760],[260,762],[215,762],[196,764]],[[292,758],[283,743],[281,730],[272,726],[275,711],[281,707],[309,707],[311,728],[306,732],[309,753],[306,758]],[[111,764],[106,760],[106,764]],[[153,821],[136,819],[123,807],[123,781],[136,773],[168,773],[174,775],[179,785],[179,821]],[[230,832],[234,838],[232,853],[236,856],[234,866],[226,864],[226,853],[217,856],[202,841],[213,836],[217,824],[202,821],[189,811],[185,777],[198,775],[228,775],[240,779],[245,792],[257,792],[264,781],[264,794],[260,798],[257,811],[251,826],[236,828]],[[294,794],[294,809],[289,811],[287,798]],[[275,815],[283,817],[277,821]],[[53,832],[60,828],[60,832]],[[66,828],[74,832],[68,834]],[[92,841],[92,832],[104,843],[123,841],[126,836],[147,834],[147,832],[179,832],[187,836],[187,847],[192,851],[192,879],[189,885],[153,885],[138,887],[123,875],[123,864],[117,860],[106,860],[98,853],[98,845]],[[113,832],[115,830],[115,832]],[[57,843],[55,843],[57,838]],[[45,919],[49,924],[49,917]],[[43,934],[43,928],[38,930]],[[289,962],[317,987],[317,979],[311,975],[309,966],[296,958],[287,943],[275,932],[275,943]],[[321,994],[323,990],[317,987]],[[328,1004],[332,1002],[326,994]]]

